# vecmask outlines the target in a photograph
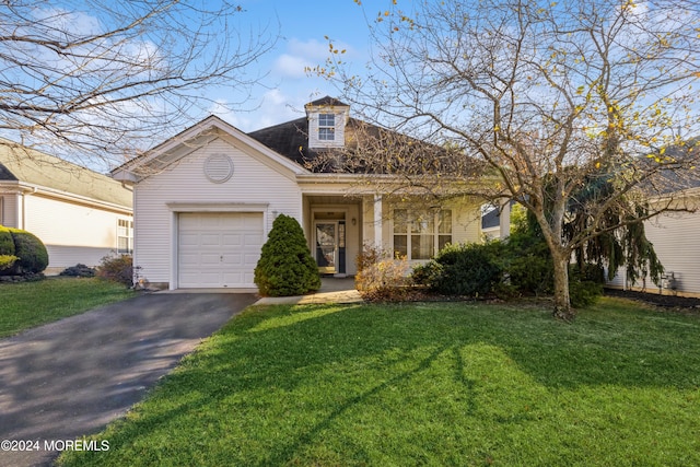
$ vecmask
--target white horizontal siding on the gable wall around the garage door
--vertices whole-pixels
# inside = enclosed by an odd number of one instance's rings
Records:
[[[252,155],[241,148],[246,147],[217,139],[136,185],[135,266],[141,278],[178,287],[177,215],[192,209],[174,205],[207,211],[249,211],[246,207],[254,206],[256,212],[264,212],[265,235],[277,213],[301,222],[301,191],[293,174],[265,162],[266,155]],[[225,183],[212,183],[205,175],[205,161],[211,154],[231,157],[233,175]]]

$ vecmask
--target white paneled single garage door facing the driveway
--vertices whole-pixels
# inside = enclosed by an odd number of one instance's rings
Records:
[[[250,288],[262,247],[261,212],[178,215],[179,288]]]

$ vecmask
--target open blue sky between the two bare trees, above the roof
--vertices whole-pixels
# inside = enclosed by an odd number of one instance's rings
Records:
[[[207,110],[243,131],[252,131],[303,116],[304,104],[325,95],[337,95],[334,85],[324,79],[310,77],[304,67],[323,65],[328,57],[328,42],[347,49],[345,61],[363,67],[369,57],[368,20],[392,3],[392,0],[242,0],[241,19],[253,30],[269,26],[280,28],[275,49],[262,57],[250,73],[267,73],[253,90],[245,108],[228,109],[241,94],[234,89],[211,90],[209,96],[221,105]],[[245,26],[244,26],[245,27]],[[250,108],[255,110],[249,112]]]

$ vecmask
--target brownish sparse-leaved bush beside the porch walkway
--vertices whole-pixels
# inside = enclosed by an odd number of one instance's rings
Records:
[[[406,257],[392,258],[387,252],[365,245],[357,257],[354,284],[363,300],[370,302],[400,302],[410,293],[410,278]]]

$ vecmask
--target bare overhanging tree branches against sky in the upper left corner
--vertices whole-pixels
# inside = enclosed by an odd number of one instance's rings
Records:
[[[276,35],[243,14],[226,0],[3,2],[0,136],[120,164],[186,125],[207,89],[256,83]]]

